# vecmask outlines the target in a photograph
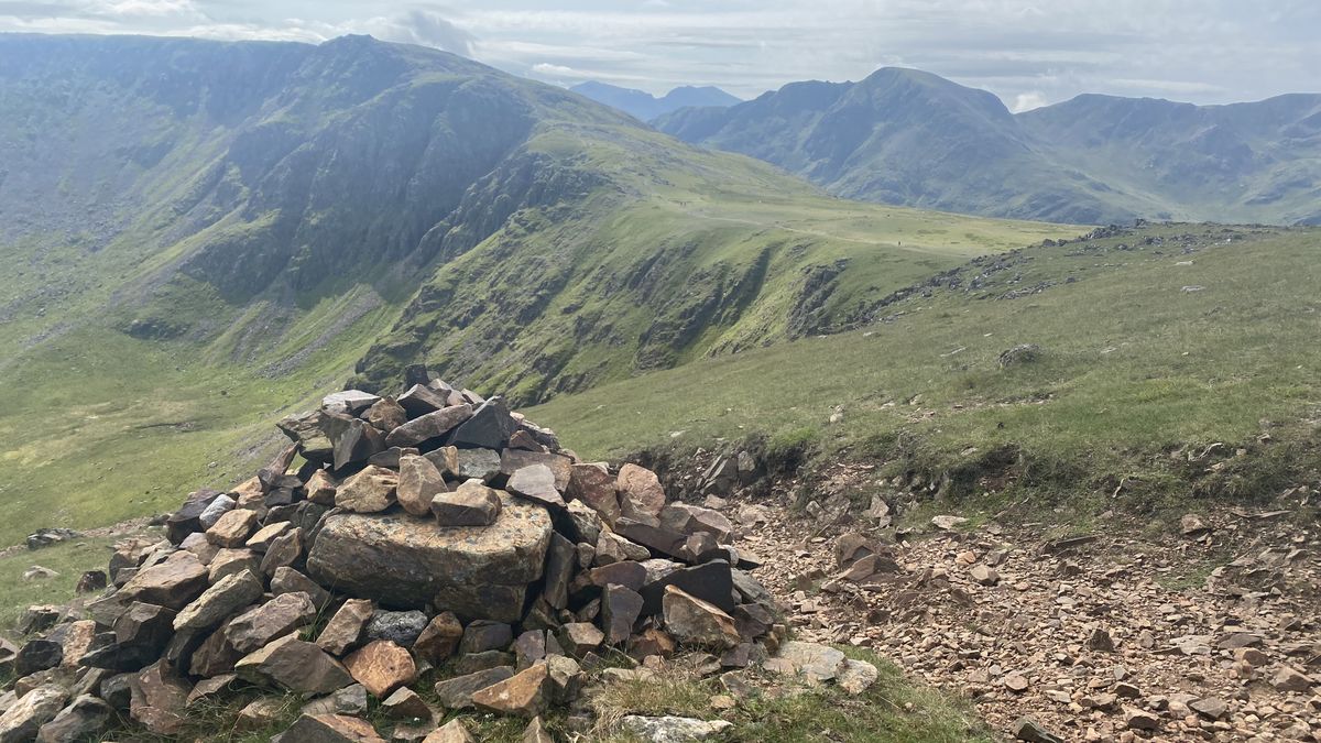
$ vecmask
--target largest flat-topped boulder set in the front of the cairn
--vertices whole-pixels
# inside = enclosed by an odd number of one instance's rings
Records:
[[[542,576],[551,517],[507,493],[501,500],[490,526],[441,528],[400,513],[330,516],[308,574],[395,608],[433,603],[465,620],[519,621],[527,584]]]

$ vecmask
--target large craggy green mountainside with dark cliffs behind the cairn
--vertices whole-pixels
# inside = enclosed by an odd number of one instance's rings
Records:
[[[0,497],[79,525],[227,485],[197,463],[354,369],[538,401],[831,329],[1062,231],[839,202],[366,37],[0,36],[0,375],[24,390]]]

